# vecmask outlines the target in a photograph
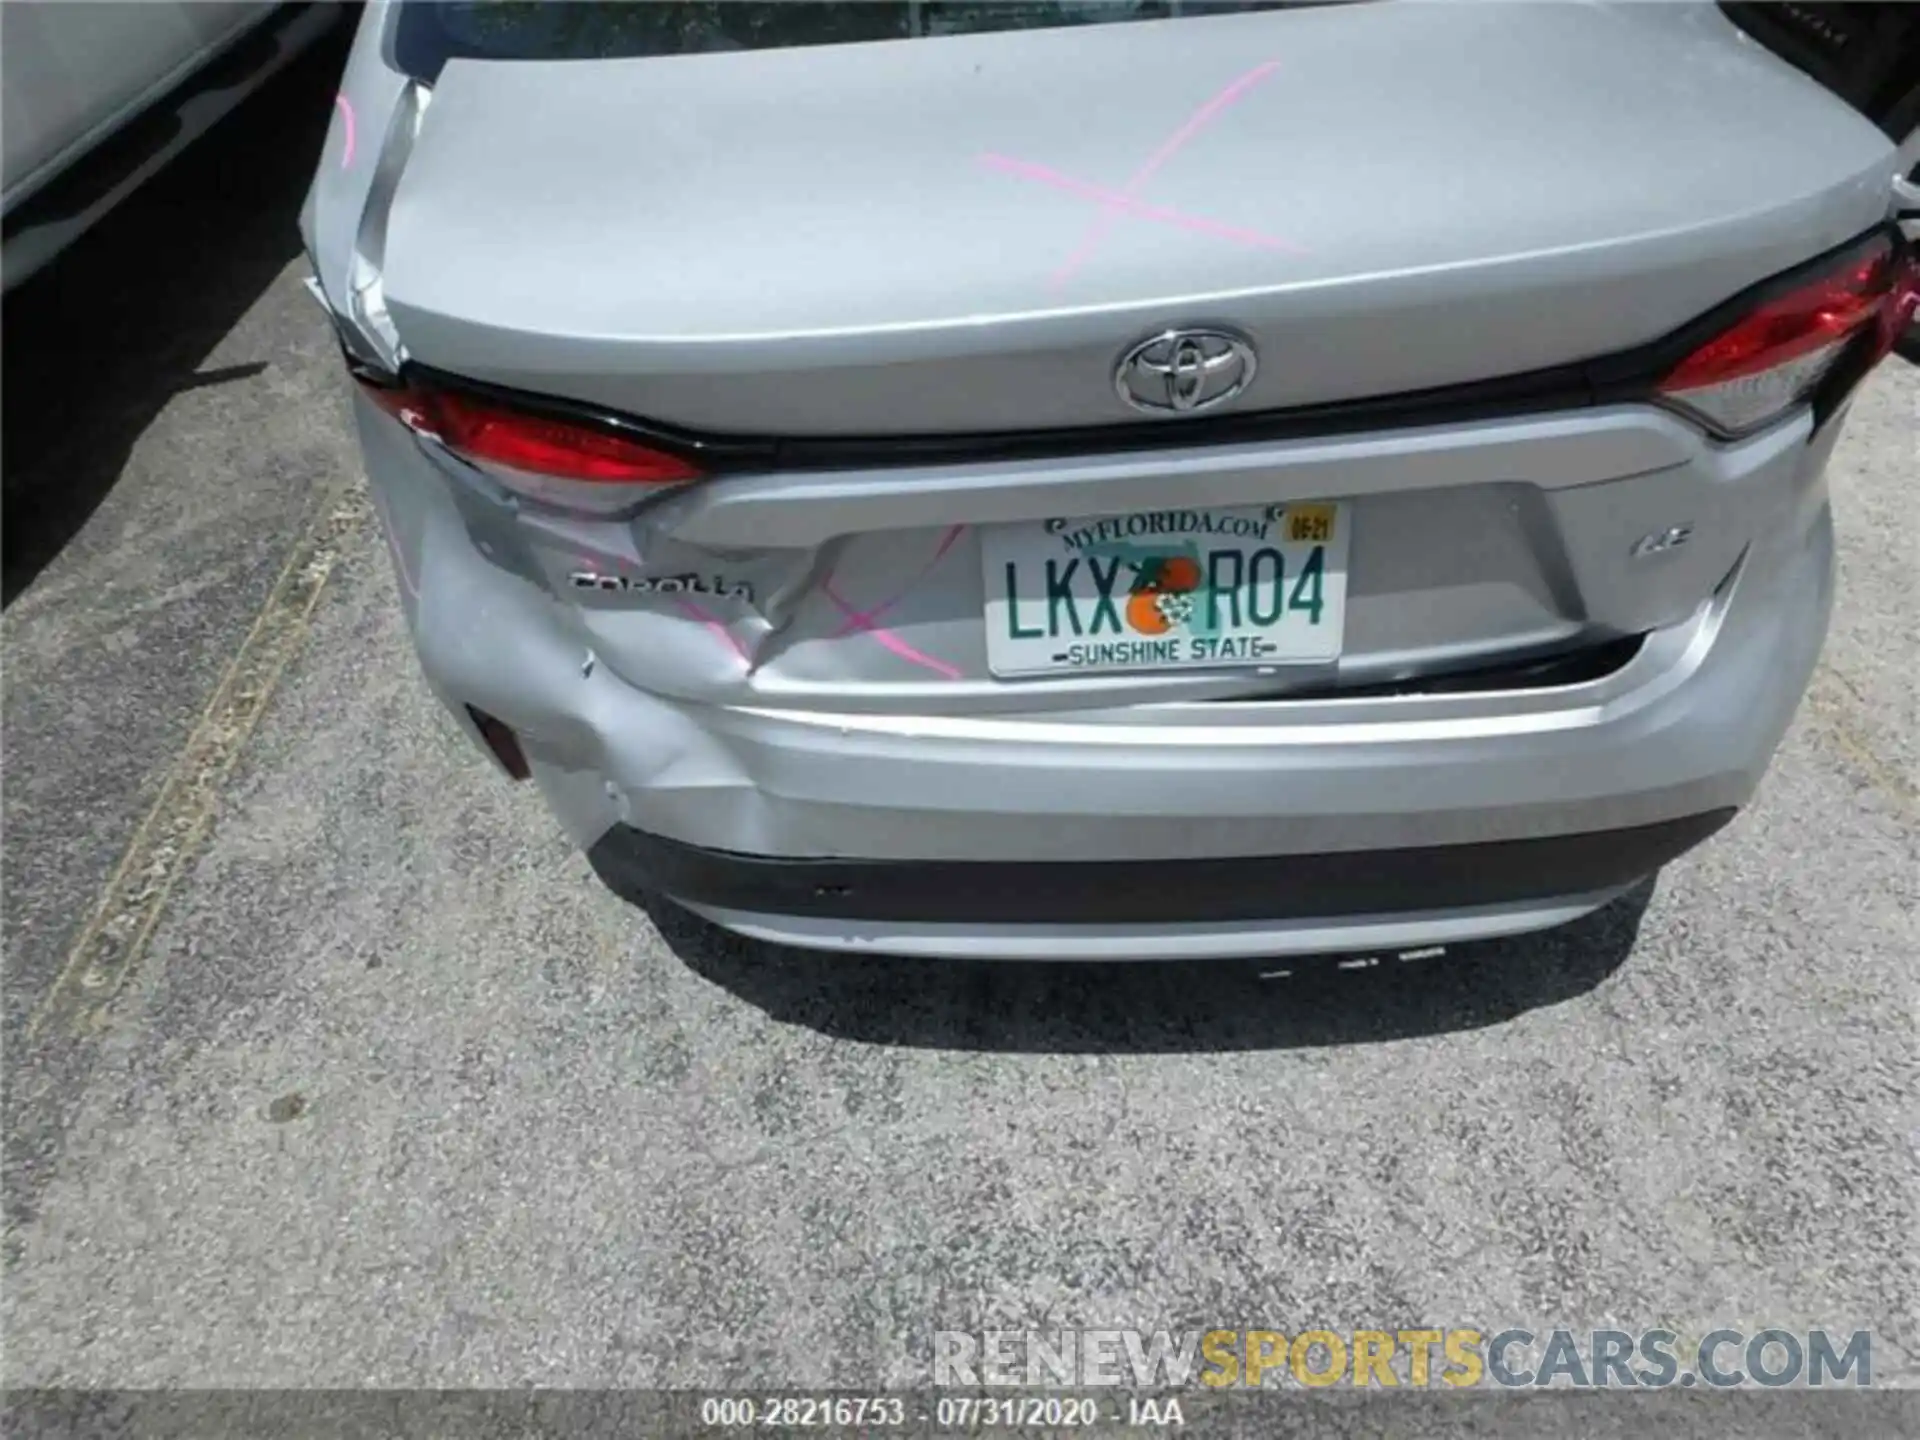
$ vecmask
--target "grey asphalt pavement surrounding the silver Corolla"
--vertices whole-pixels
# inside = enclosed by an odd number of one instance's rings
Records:
[[[1759,801],[1630,900],[1288,975],[814,958],[614,899],[430,701],[300,284],[328,96],[6,305],[10,1384],[1421,1321],[1872,1329],[1912,1380],[1920,371],[1834,457]]]

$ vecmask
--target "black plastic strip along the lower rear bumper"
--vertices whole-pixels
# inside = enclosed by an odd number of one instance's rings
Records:
[[[616,826],[588,860],[628,899],[958,925],[1204,924],[1415,914],[1632,885],[1734,812],[1584,835],[1221,860],[791,860]]]

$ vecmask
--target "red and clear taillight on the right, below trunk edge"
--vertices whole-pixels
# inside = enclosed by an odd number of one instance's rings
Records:
[[[1866,326],[1878,348],[1868,365],[1880,361],[1897,338],[1908,276],[1880,236],[1832,273],[1759,303],[1680,361],[1659,394],[1720,434],[1753,430],[1805,399]]]

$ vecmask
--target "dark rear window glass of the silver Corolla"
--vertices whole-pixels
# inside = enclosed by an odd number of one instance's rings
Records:
[[[1281,10],[1298,0],[407,0],[394,63],[628,60]]]

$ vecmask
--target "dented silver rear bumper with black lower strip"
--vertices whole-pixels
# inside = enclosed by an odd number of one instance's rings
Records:
[[[722,705],[595,664],[438,480],[371,468],[455,718],[515,728],[622,893],[820,948],[1298,954],[1572,920],[1749,799],[1832,599],[1814,465],[1695,614],[1576,684],[1046,714]]]

